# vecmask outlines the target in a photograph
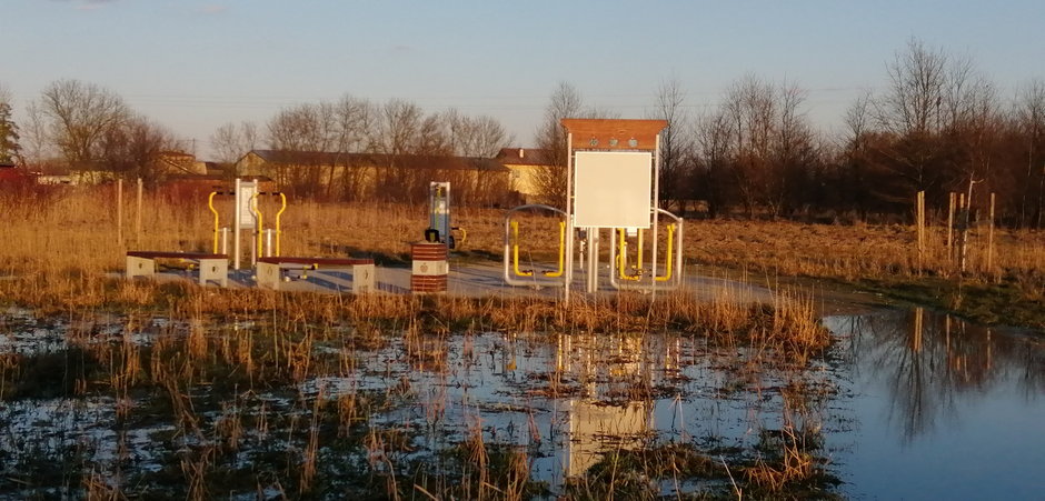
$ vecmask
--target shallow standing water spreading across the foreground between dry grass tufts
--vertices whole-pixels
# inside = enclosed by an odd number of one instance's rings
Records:
[[[0,355],[68,350],[69,333],[82,338],[86,329],[37,322],[4,313]],[[34,461],[40,459],[60,468],[42,477],[53,484],[31,490],[8,480],[0,491],[67,492],[81,488],[90,470],[128,493],[149,482],[161,493],[178,492],[163,489],[183,490],[191,478],[186,464],[206,450],[223,451],[203,455],[210,467],[246,475],[243,485],[230,485],[222,495],[276,495],[288,485],[279,480],[288,458],[307,457],[302,451],[314,448],[314,458],[321,459],[316,478],[327,479],[328,492],[344,494],[368,481],[345,478],[346,469],[387,471],[420,462],[432,472],[449,471],[457,463],[446,451],[481,437],[526,451],[530,479],[547,485],[544,497],[556,498],[608,452],[696,443],[752,457],[767,432],[794,427],[823,442],[824,468],[843,482],[837,491],[845,497],[1039,495],[1041,338],[922,310],[833,315],[825,324],[837,342],[804,367],[782,367],[758,349],[716,348],[693,337],[406,334],[359,349],[339,333],[311,347],[317,360],[339,363],[317,361],[315,375],[282,388],[229,391],[215,381],[181,388],[173,400],[157,387],[120,401],[91,387],[81,395],[4,401],[0,478],[17,477],[27,465],[47,470]],[[278,342],[280,334],[265,325],[240,322],[208,337],[242,342],[253,333]],[[91,329],[91,342],[133,340],[150,350],[160,337],[185,340],[200,327],[113,319]],[[178,401],[190,410],[168,409]],[[193,423],[187,428],[178,415]],[[331,424],[338,419],[340,424]],[[361,443],[345,438],[368,428]],[[720,459],[728,463],[736,455]],[[724,488],[694,479],[655,483],[667,497]]]

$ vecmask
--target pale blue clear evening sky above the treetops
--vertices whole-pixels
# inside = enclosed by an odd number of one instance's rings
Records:
[[[225,123],[346,94],[489,116],[530,147],[560,82],[646,118],[667,81],[700,114],[753,74],[829,131],[912,39],[1005,99],[1045,79],[1041,0],[0,0],[0,87],[19,120],[57,80],[100,86],[203,158]]]

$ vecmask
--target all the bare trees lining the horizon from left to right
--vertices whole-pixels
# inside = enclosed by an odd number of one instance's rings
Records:
[[[686,102],[680,82],[664,82],[648,112],[668,122],[661,134],[661,203],[684,212],[704,208],[713,217],[907,217],[919,191],[929,208],[945,208],[947,193],[958,191],[974,209],[994,192],[1005,222],[1045,226],[1045,82],[1032,81],[1003,99],[971,59],[914,39],[888,62],[885,81],[878,93],[856,99],[845,126],[829,132],[813,127],[806,94],[795,82],[745,76],[700,114]],[[173,134],[136,114],[119,96],[76,80],[48,86],[17,130],[3,117],[0,108],[0,122],[10,131],[0,136],[20,142],[8,151],[57,156],[79,170],[155,179],[157,153],[178,147]],[[566,196],[559,120],[567,117],[615,113],[586,104],[568,83],[553,92],[535,133],[547,163],[536,184],[557,204]],[[218,160],[228,164],[259,147],[490,158],[511,141],[490,117],[429,113],[404,100],[375,103],[350,96],[282,109],[262,127],[228,123],[211,137]],[[302,196],[340,199],[346,196],[329,182],[334,172],[334,164],[303,166],[280,181]],[[395,169],[382,174],[387,179],[379,184],[401,181]],[[324,177],[327,182],[317,181]]]

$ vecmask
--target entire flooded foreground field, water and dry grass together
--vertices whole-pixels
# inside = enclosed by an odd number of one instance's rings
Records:
[[[1034,498],[1042,338],[824,319],[691,334],[0,315],[0,498]]]

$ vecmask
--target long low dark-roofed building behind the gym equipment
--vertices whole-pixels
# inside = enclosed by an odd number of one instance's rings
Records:
[[[478,157],[251,150],[235,168],[241,178],[271,178],[290,196],[327,200],[420,203],[431,181],[449,181],[461,204],[500,204],[509,196],[510,170]]]

